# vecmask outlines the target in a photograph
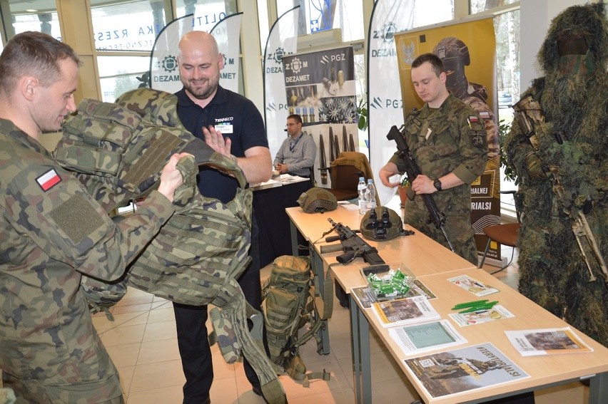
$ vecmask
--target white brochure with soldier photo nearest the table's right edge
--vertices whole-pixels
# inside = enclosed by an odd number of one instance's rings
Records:
[[[554,353],[592,352],[570,327],[505,331],[510,343],[522,356]]]

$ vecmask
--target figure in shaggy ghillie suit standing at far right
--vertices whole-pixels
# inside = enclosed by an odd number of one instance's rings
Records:
[[[516,119],[505,139],[507,163],[521,181],[520,292],[604,346],[607,27],[603,4],[572,6],[553,19],[537,55],[545,76],[534,80],[514,105]],[[528,120],[532,130],[522,123],[522,114],[533,117]],[[597,246],[586,250],[589,267],[572,227],[581,218]],[[579,237],[587,247],[588,240]]]

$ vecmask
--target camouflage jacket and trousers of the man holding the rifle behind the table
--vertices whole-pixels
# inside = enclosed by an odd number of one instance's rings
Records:
[[[470,184],[485,169],[487,142],[481,122],[472,108],[450,94],[440,108],[431,109],[425,104],[420,111],[410,114],[403,131],[422,174],[435,179],[454,172],[465,182],[432,195],[440,212],[446,215],[445,231],[456,254],[475,265],[477,247],[471,226]],[[390,161],[397,165],[397,170],[405,171],[398,152]],[[448,247],[440,229],[429,224],[427,217],[421,197],[406,200],[403,222]]]

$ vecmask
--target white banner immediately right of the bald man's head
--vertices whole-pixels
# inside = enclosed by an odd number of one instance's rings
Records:
[[[238,93],[238,50],[241,19],[243,19],[243,13],[231,14],[211,29],[211,35],[216,38],[218,49],[224,58],[224,68],[220,72],[220,85],[235,93]]]

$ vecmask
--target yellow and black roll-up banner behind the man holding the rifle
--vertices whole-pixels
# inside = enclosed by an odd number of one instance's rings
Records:
[[[445,64],[447,89],[471,105],[484,121],[488,161],[484,174],[471,187],[471,222],[475,229],[477,252],[483,254],[487,244],[483,229],[491,224],[500,224],[496,42],[492,17],[397,33],[395,46],[404,113],[423,105],[412,85],[411,63],[420,54],[430,52],[437,54]],[[487,258],[490,263],[500,264],[499,244],[490,244]]]

